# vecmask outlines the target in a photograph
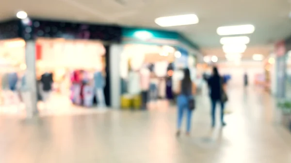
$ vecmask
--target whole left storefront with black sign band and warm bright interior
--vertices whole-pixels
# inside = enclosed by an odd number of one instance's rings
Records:
[[[111,105],[110,46],[121,42],[120,27],[23,19],[1,23],[0,39],[1,66],[9,70],[1,74],[13,70],[16,83],[25,78],[30,116],[46,108],[48,99],[57,104],[50,108],[66,102],[91,107],[96,94],[104,94],[104,103]],[[46,103],[37,107],[39,100]]]

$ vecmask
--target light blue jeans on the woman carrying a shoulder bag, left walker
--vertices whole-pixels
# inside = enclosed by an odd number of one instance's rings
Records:
[[[186,114],[187,114],[187,121],[186,121],[187,132],[190,132],[192,110],[190,110],[188,108],[188,97],[185,95],[178,95],[177,105],[178,105],[178,130],[181,129],[183,114],[184,114],[184,112],[186,112]]]

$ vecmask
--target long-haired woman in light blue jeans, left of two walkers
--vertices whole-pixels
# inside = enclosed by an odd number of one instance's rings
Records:
[[[190,134],[191,128],[191,119],[192,119],[192,110],[189,109],[188,100],[193,98],[193,95],[196,93],[196,86],[194,82],[192,82],[190,78],[190,71],[189,69],[184,69],[184,78],[179,81],[177,92],[177,105],[178,105],[178,131],[177,136],[181,133],[181,125],[183,114],[186,112],[187,115],[187,130],[186,134]]]

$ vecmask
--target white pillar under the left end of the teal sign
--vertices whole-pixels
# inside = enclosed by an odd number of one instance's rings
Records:
[[[121,94],[121,78],[120,78],[120,57],[123,51],[122,44],[113,44],[110,46],[110,96],[111,106],[113,108],[120,108],[120,94]]]

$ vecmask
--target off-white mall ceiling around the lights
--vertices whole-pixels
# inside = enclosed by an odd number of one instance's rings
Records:
[[[20,10],[31,17],[177,30],[206,50],[221,49],[219,26],[253,24],[250,46],[291,35],[288,0],[2,0],[0,20]],[[192,13],[200,19],[196,25],[160,28],[154,23],[156,17]]]

